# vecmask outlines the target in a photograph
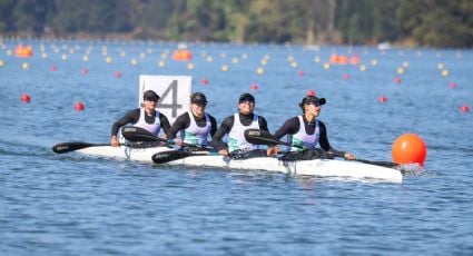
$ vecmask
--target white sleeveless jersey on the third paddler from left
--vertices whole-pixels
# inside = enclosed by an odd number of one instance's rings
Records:
[[[253,150],[258,149],[259,146],[253,145],[245,139],[246,129],[259,129],[258,115],[254,114],[253,121],[249,126],[242,125],[239,120],[239,115],[234,115],[234,126],[231,127],[230,132],[228,132],[228,151],[235,151],[237,149],[242,150]]]

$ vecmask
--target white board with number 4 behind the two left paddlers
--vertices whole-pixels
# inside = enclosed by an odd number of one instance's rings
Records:
[[[154,90],[159,95],[158,110],[173,124],[189,109],[193,78],[188,76],[139,76],[138,106],[142,106],[142,93]]]

